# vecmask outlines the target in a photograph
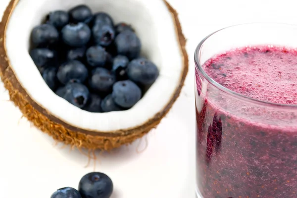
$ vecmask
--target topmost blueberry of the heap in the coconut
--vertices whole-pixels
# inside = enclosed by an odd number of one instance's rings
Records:
[[[73,22],[85,22],[92,17],[92,11],[86,5],[78,5],[69,11],[69,15]]]

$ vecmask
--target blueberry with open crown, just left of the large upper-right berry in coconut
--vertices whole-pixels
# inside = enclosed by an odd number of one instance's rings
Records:
[[[93,29],[94,41],[98,45],[108,46],[115,38],[113,26],[108,24],[97,23]]]

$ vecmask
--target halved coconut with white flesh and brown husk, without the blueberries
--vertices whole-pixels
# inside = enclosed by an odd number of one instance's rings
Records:
[[[158,79],[130,110],[90,113],[75,107],[49,89],[29,55],[33,27],[50,11],[78,4],[131,24],[142,53],[158,66]],[[11,0],[0,23],[0,76],[10,100],[55,140],[110,150],[142,137],[169,111],[188,72],[185,44],[177,12],[165,0]]]

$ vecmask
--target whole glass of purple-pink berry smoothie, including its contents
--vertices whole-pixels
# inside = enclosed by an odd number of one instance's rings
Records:
[[[297,198],[297,26],[254,23],[195,52],[198,198]]]

